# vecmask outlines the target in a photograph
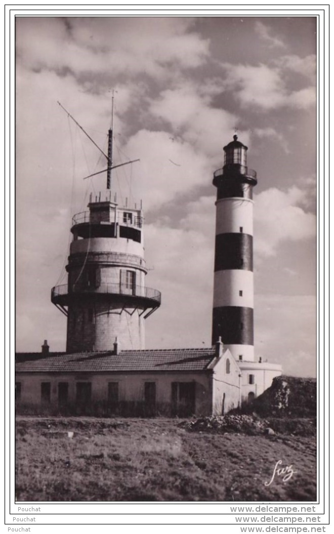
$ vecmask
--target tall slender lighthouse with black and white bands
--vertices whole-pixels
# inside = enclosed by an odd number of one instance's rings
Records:
[[[236,360],[254,360],[253,186],[248,148],[233,136],[224,146],[224,167],[213,175],[217,187],[212,344],[221,336]]]

